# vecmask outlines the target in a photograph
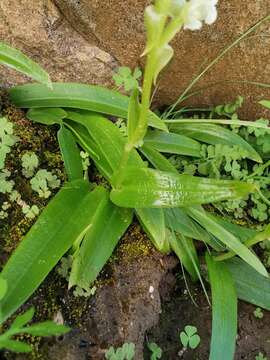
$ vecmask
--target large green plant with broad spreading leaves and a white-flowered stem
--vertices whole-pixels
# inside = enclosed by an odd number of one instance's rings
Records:
[[[87,292],[134,215],[154,246],[163,253],[174,251],[191,279],[200,280],[204,289],[195,242],[206,244],[213,304],[210,360],[225,353],[228,359],[234,356],[237,298],[270,309],[268,273],[250,249],[269,238],[269,227],[260,232],[240,227],[202,207],[208,203],[221,206],[225,200],[246,201],[250,193],[254,203],[267,201],[261,184],[248,179],[250,174],[240,164],[251,160],[260,166],[265,156],[264,150],[260,151],[264,140],[253,144],[237,132],[238,127],[248,126],[252,136],[265,136],[267,124],[238,120],[235,111],[241,99],[237,104],[211,109],[212,115],[206,119],[167,119],[164,115],[164,121],[149,110],[152,86],[173,56],[170,41],[182,26],[197,29],[202,20],[214,20],[215,5],[208,1],[157,0],[146,8],[143,86],[139,89],[132,82],[130,98],[82,84],[54,83],[52,90],[28,84],[9,91],[15,105],[28,109],[30,120],[59,126],[58,141],[68,181],[2,271],[10,286],[2,302],[1,321],[29,298],[66,253],[72,257],[69,288],[77,286]],[[121,83],[129,86],[131,72],[125,73]],[[215,111],[226,118],[213,119]],[[104,115],[126,119],[126,132]],[[223,125],[232,125],[233,130]],[[95,164],[105,186],[90,183],[85,176],[81,149]],[[168,154],[174,156],[177,168]],[[192,164],[190,159],[194,160]],[[258,171],[262,170],[267,171],[267,167]],[[200,176],[183,171],[197,171]],[[48,174],[42,174],[34,186],[44,196],[50,180]],[[215,178],[210,178],[212,174]],[[191,340],[192,346],[198,341],[195,333],[185,336],[197,339]],[[115,355],[112,349],[111,356]]]

